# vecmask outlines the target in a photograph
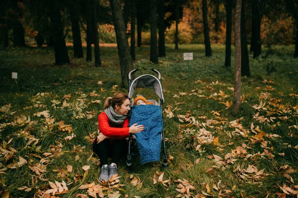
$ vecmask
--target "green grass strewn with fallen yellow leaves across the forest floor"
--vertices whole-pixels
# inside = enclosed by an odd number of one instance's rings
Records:
[[[105,197],[117,197],[119,191],[120,197],[174,198],[179,195],[179,179],[194,187],[191,194],[181,193],[186,197],[274,198],[284,193],[280,188],[284,184],[297,191],[298,62],[292,58],[294,46],[276,46],[275,54],[268,57],[252,59],[249,55],[251,77],[241,78],[245,98],[238,115],[224,105],[233,98],[233,55],[232,68],[225,68],[224,45],[213,45],[213,56],[209,58],[205,57],[203,45],[179,47],[174,50],[173,45],[167,45],[167,56],[159,58],[158,65],[149,62],[149,47],[137,48],[134,63],[140,69],[137,75],[154,74],[152,67],[162,75],[163,108],[174,114],[170,118],[163,112],[167,153],[173,158],[168,167],[161,163],[141,166],[136,156],[130,172],[122,159],[117,183],[121,186],[110,188],[110,192],[104,190]],[[69,47],[70,57],[72,50]],[[63,180],[69,192],[56,196],[68,198],[87,195],[87,190],[79,189],[86,182],[100,184],[98,159],[92,155],[90,143],[98,129],[97,115],[107,96],[127,92],[116,86],[121,84],[117,48],[101,46],[102,67],[94,67],[85,59],[55,66],[53,52],[50,48],[0,51],[0,195],[8,191],[13,198],[38,197],[51,189],[49,181]],[[194,61],[190,62],[191,90],[187,62],[183,61],[186,52],[194,53]],[[11,72],[18,72],[17,84]],[[151,90],[139,89],[136,93],[156,99]],[[63,106],[64,100],[68,107]],[[256,110],[261,101],[266,102],[266,109]],[[49,111],[55,120],[36,115],[43,111]],[[230,123],[239,118],[236,125]],[[67,128],[60,121],[71,125],[70,133],[59,130],[59,125]],[[72,134],[75,136],[71,140],[65,139]],[[19,162],[19,156],[27,162],[11,168]],[[222,160],[216,160],[217,156]],[[228,161],[232,159],[235,161]],[[67,171],[68,165],[73,167],[72,172]],[[90,165],[87,174],[81,168],[84,165]],[[264,173],[258,178],[256,172],[245,172],[251,165],[258,171],[264,169]],[[34,166],[43,166],[46,172],[33,172]],[[170,183],[153,184],[156,171],[164,172],[163,181],[170,179]],[[285,171],[289,175],[284,175]],[[131,175],[139,179],[141,188],[130,184]],[[18,190],[22,186],[31,190]],[[295,196],[289,193],[288,197]]]

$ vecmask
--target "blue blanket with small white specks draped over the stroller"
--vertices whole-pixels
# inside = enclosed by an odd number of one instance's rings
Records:
[[[136,133],[141,164],[160,160],[162,114],[159,106],[138,105],[131,108],[129,126],[144,125],[143,132]]]

